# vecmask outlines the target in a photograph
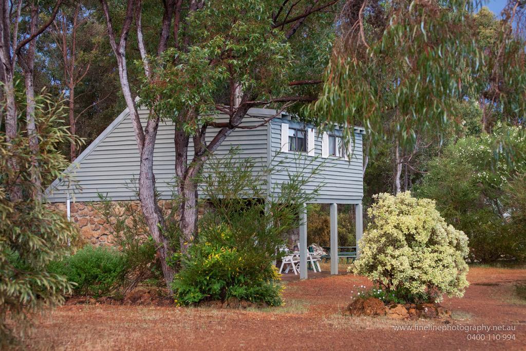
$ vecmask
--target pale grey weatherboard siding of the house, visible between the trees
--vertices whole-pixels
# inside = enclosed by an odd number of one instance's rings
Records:
[[[261,123],[261,117],[269,117],[276,113],[272,109],[254,108],[249,111],[250,116],[244,119],[242,125],[254,126]],[[143,122],[146,122],[148,111],[139,109]],[[227,116],[219,115],[218,120]],[[252,157],[261,166],[272,166],[272,162],[281,163],[289,171],[294,171],[296,162],[291,153],[280,153],[281,123],[299,126],[297,122],[286,118],[275,118],[270,125],[259,126],[255,129],[236,129],[219,146],[215,155],[226,155],[230,147],[239,146],[239,157]],[[207,141],[210,142],[217,129],[209,128]],[[320,158],[317,162],[325,161],[321,174],[315,183],[324,182],[319,197],[319,203],[358,204],[363,196],[362,186],[362,129],[355,128],[356,145],[350,162],[334,157]],[[335,131],[338,134],[338,131]],[[175,151],[173,142],[173,125],[171,122],[161,122],[159,125],[154,152],[154,174],[156,187],[161,199],[168,199],[173,193]],[[190,140],[188,157],[193,157],[193,144]],[[270,148],[267,145],[271,145]],[[315,155],[321,155],[321,136],[315,137]],[[311,157],[311,156],[305,156]],[[56,179],[46,190],[48,202],[65,202],[69,192],[70,197],[77,202],[97,201],[97,193],[105,194],[113,200],[136,199],[135,192],[130,188],[131,180],[138,178],[139,154],[135,141],[135,134],[131,118],[127,109],[110,124],[105,131],[77,157],[65,173],[72,174],[74,182],[66,183]],[[205,167],[206,172],[206,167]],[[287,171],[280,169],[272,174],[269,182],[272,189],[279,188],[279,184],[288,179]],[[316,184],[310,184],[312,189]]]

